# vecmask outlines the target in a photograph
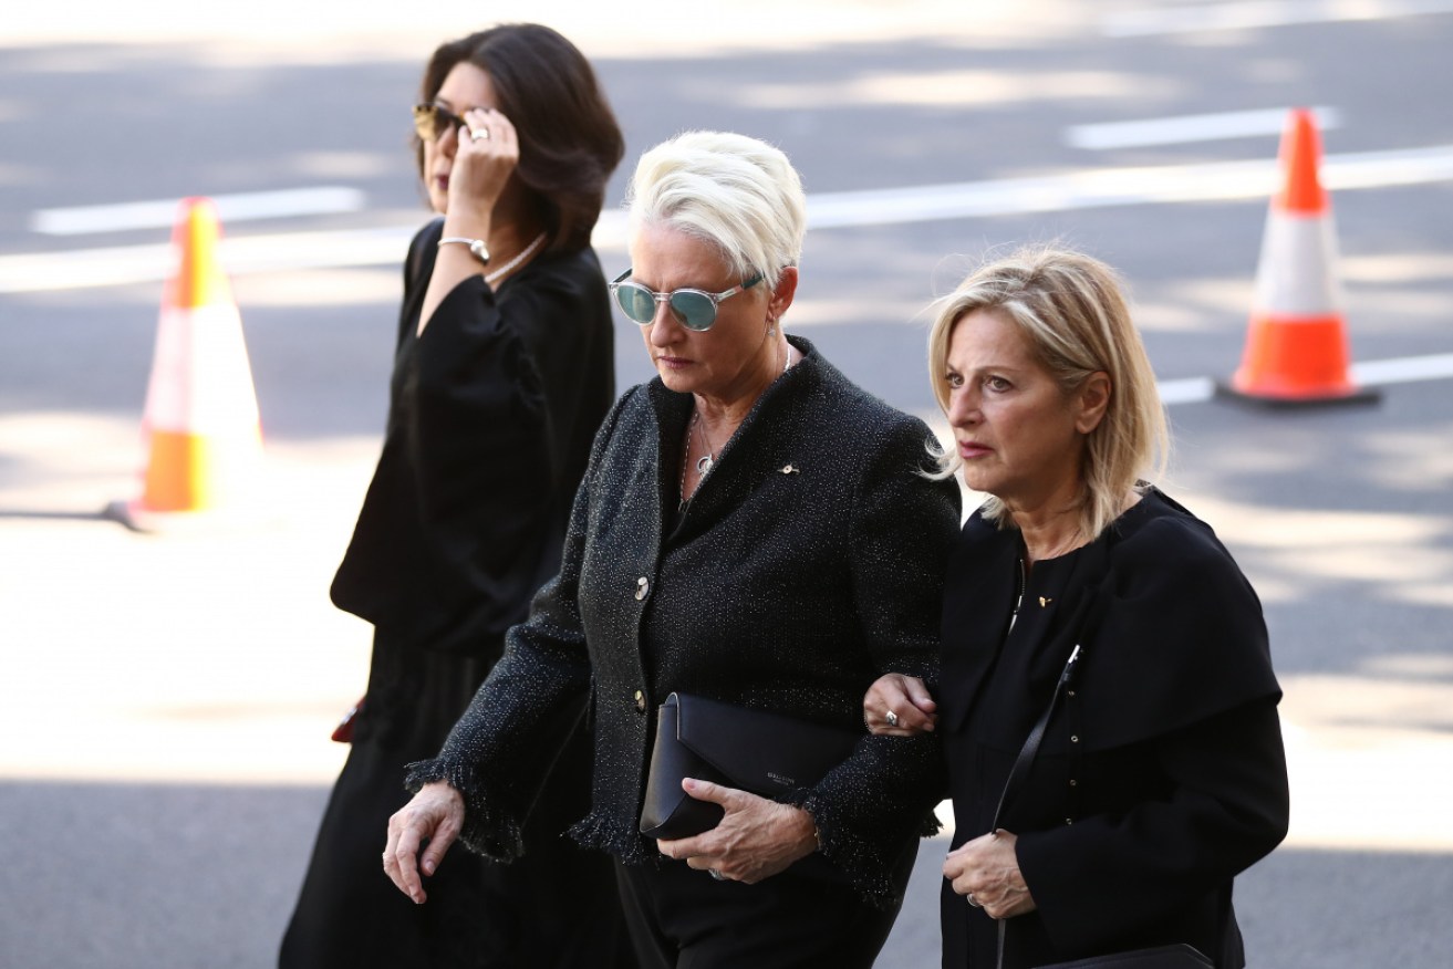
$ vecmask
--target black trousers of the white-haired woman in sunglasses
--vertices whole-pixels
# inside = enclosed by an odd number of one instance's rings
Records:
[[[899,885],[914,857],[895,866]],[[844,882],[790,872],[745,885],[686,861],[618,861],[616,882],[639,969],[872,969],[898,917]]]

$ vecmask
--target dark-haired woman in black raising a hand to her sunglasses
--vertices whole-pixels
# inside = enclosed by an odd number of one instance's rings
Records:
[[[420,176],[442,218],[410,246],[384,450],[333,583],[375,626],[372,667],[280,965],[610,966],[612,867],[559,837],[588,809],[578,737],[519,863],[456,853],[429,905],[379,872],[405,764],[439,753],[559,567],[615,397],[590,232],[623,141],[590,64],[548,28],[498,26],[434,51],[421,93]]]

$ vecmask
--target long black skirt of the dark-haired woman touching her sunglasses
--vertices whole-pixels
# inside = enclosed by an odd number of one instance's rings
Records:
[[[584,726],[525,828],[526,854],[495,864],[455,844],[414,905],[384,875],[388,818],[408,802],[404,766],[439,753],[488,673],[484,660],[378,631],[353,748],[318,830],[283,936],[282,969],[612,966],[628,947],[609,857],[565,828],[588,809]]]

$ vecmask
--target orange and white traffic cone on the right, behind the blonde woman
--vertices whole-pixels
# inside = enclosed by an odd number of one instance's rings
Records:
[[[1364,402],[1348,378],[1332,206],[1318,177],[1321,138],[1296,109],[1282,135],[1286,180],[1271,199],[1241,368],[1219,391],[1271,405]]]

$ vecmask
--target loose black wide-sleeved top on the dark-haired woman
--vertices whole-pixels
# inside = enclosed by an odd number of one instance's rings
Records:
[[[388,431],[333,601],[432,649],[494,660],[559,568],[590,442],[615,397],[596,254],[471,277],[418,336],[443,219],[404,269]]]

